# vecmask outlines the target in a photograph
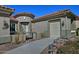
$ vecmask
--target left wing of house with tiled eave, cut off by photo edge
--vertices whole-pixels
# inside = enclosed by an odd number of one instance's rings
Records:
[[[0,44],[10,42],[10,16],[14,9],[0,6]]]

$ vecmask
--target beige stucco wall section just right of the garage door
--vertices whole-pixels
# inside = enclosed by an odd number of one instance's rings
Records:
[[[64,26],[62,26],[62,22],[64,22]],[[61,18],[61,37],[67,38],[71,36],[71,19],[67,17]]]

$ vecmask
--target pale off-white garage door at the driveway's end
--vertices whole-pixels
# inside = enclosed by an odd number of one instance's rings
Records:
[[[60,22],[50,22],[50,37],[56,39],[60,37]]]

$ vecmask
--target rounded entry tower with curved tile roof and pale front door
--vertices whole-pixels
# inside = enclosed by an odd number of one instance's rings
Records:
[[[18,20],[18,33],[26,36],[26,39],[31,39],[32,36],[32,23],[31,21],[34,19],[34,15],[31,13],[18,13],[14,16],[16,20]]]

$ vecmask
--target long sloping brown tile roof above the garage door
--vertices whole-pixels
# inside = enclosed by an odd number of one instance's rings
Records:
[[[34,22],[45,21],[45,20],[48,20],[48,19],[51,19],[51,18],[65,16],[68,13],[73,14],[69,9],[67,9],[67,10],[61,10],[61,11],[58,11],[58,12],[55,12],[55,13],[52,13],[52,14],[48,14],[48,15],[45,15],[45,16],[42,16],[42,17],[38,17],[35,20],[33,20],[32,22],[34,23]]]

